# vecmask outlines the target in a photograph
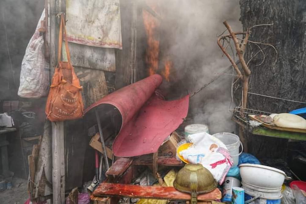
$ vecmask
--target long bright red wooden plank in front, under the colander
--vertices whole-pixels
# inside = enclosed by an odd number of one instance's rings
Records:
[[[163,186],[138,186],[129,184],[101,183],[93,192],[94,196],[122,196],[130,198],[146,199],[173,199],[173,200],[190,200],[190,194],[177,191],[174,187]],[[215,190],[198,195],[198,200],[216,200],[221,199],[221,191]]]

